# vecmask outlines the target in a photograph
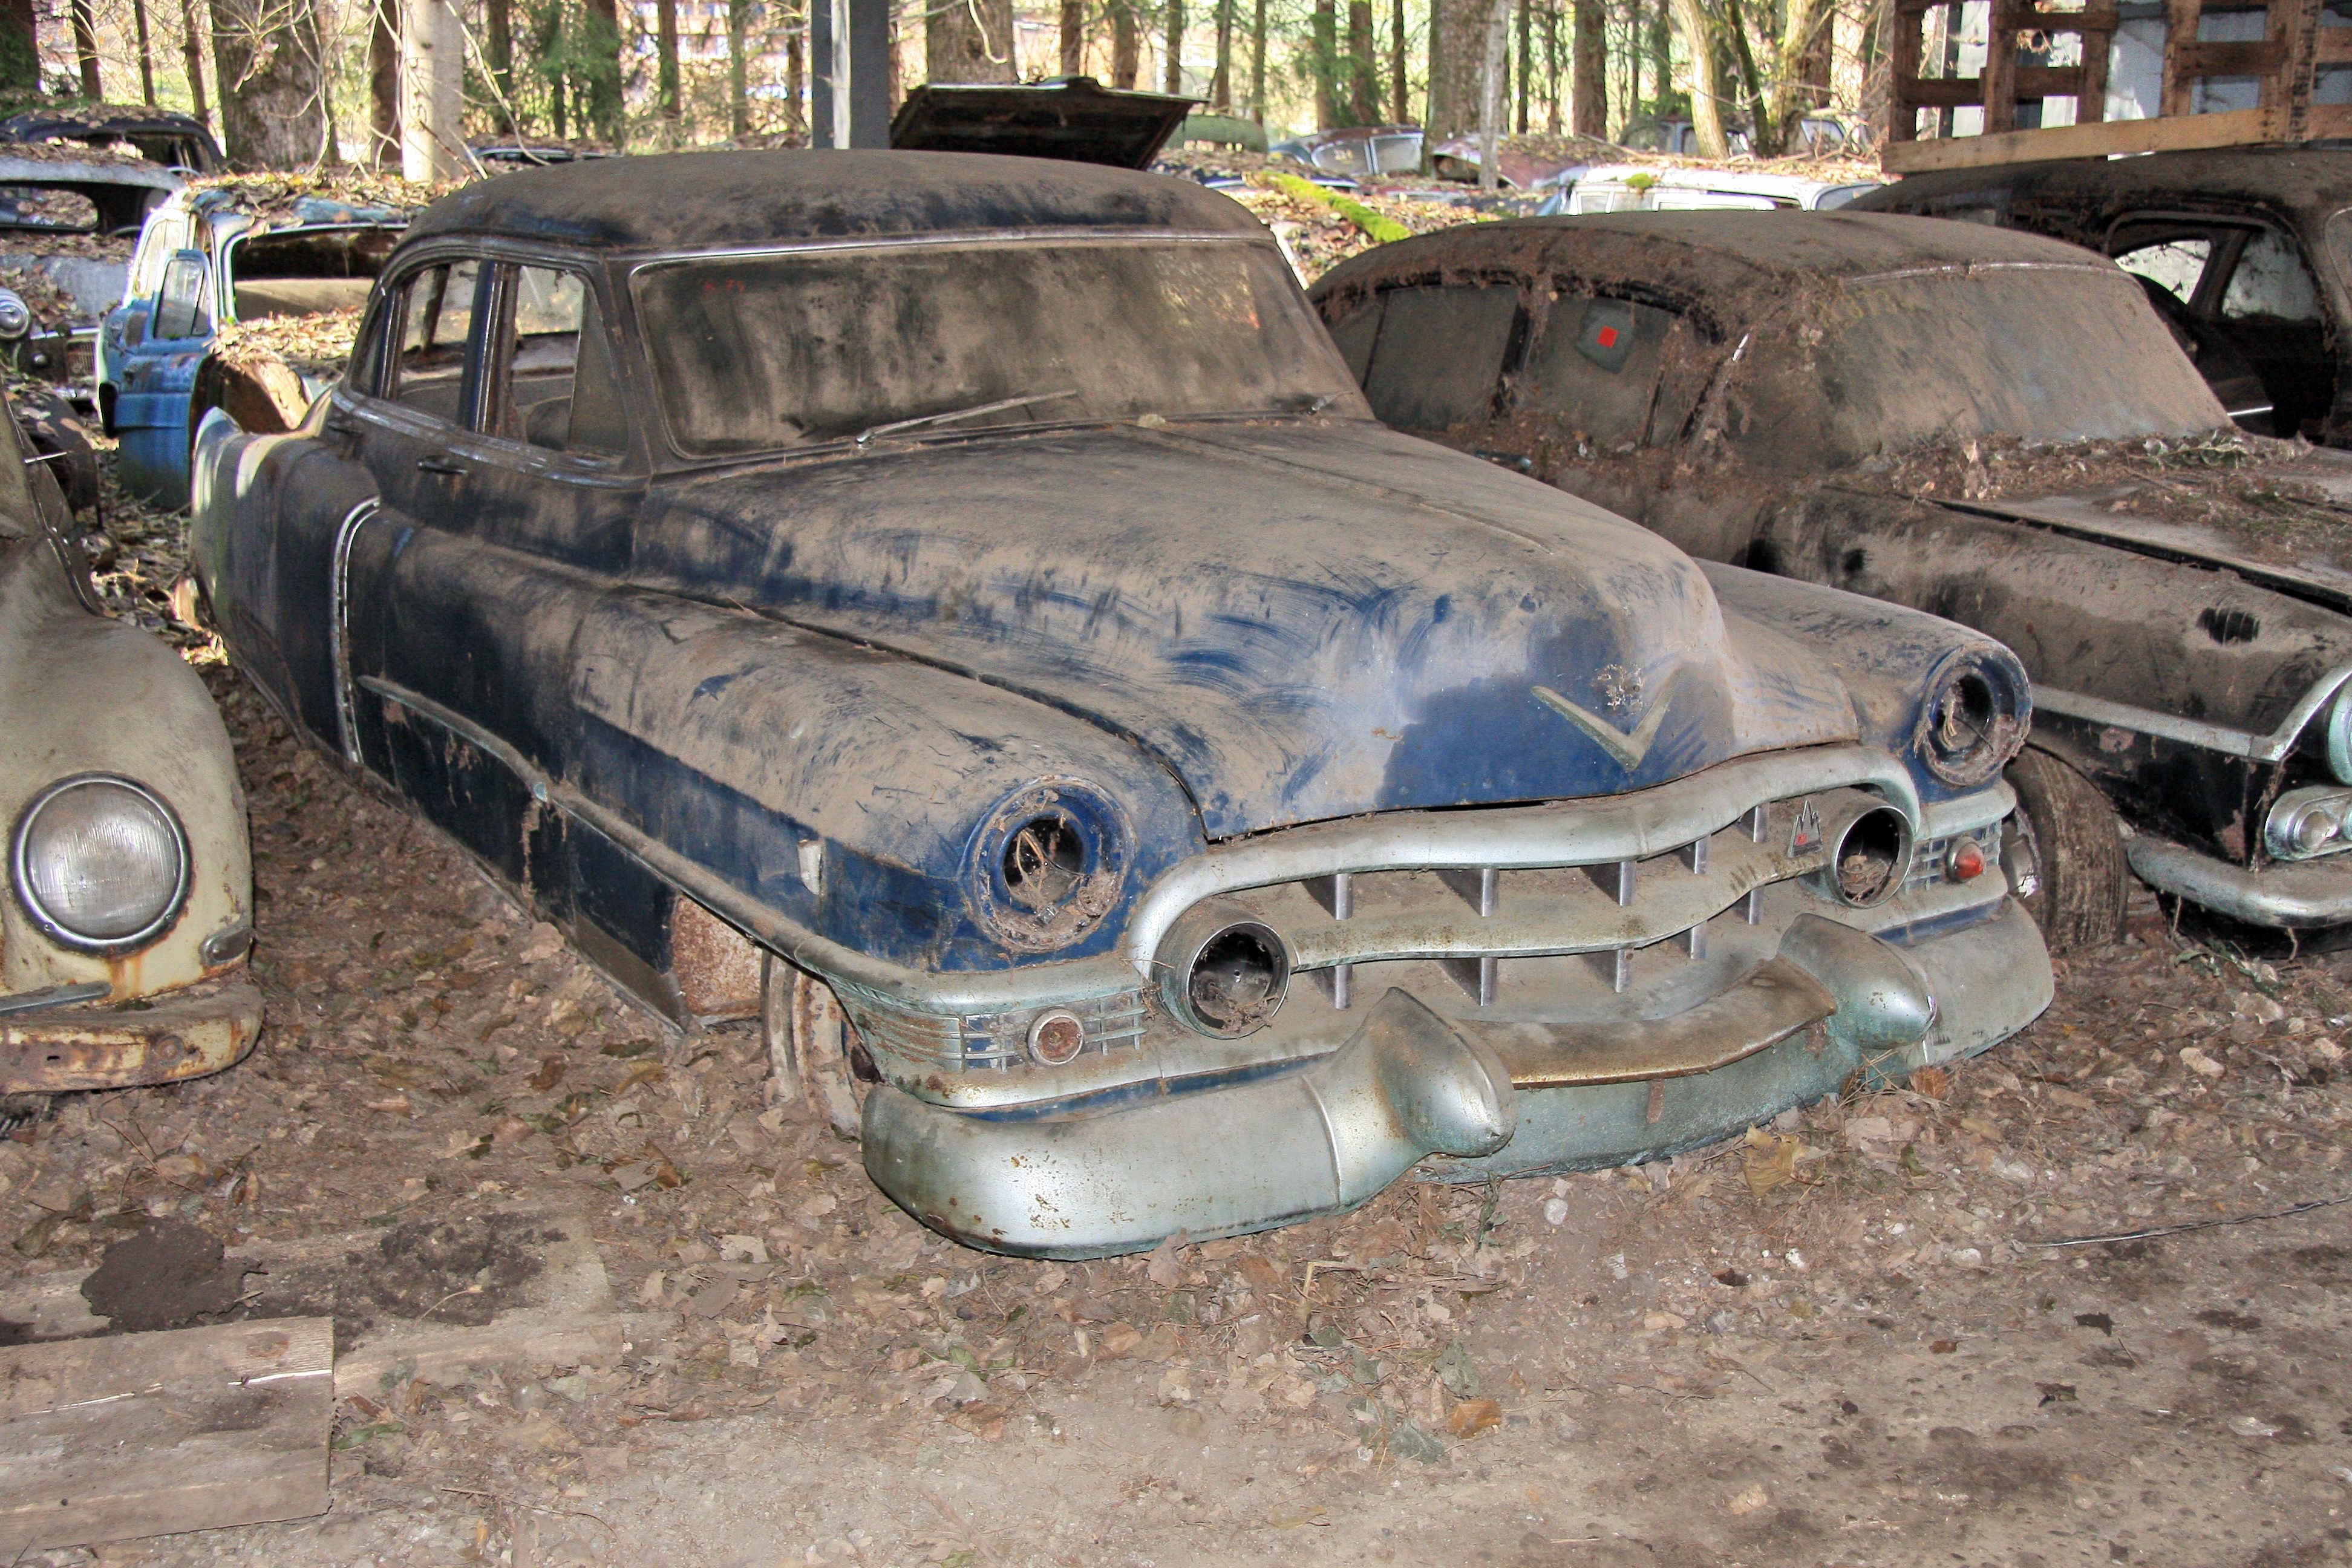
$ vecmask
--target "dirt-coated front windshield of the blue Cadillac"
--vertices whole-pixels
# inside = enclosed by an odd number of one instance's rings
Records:
[[[1336,409],[1362,395],[1279,254],[1242,240],[703,256],[635,277],[673,444]],[[957,414],[946,421],[938,416]]]

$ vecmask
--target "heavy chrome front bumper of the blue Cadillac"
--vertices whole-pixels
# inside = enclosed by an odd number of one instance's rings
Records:
[[[974,1114],[877,1086],[866,1168],[969,1246],[1094,1258],[1355,1208],[1432,1154],[1432,1178],[1484,1180],[1715,1143],[1858,1072],[1983,1051],[2049,999],[2013,900],[1903,947],[1811,917],[1731,987],[1646,1023],[1482,1027],[1390,990],[1338,1051],[1101,1110]]]

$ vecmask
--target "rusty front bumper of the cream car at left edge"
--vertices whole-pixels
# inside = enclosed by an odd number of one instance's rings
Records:
[[[132,1088],[219,1072],[261,1034],[261,987],[242,973],[132,1004],[0,1013],[0,1093]]]

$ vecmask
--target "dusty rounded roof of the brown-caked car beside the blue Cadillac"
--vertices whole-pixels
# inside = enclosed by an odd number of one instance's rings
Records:
[[[1736,313],[1780,299],[1802,277],[1872,277],[1976,266],[2079,266],[2112,261],[2013,228],[1898,214],[1842,212],[1595,212],[1557,219],[1463,223],[1364,252],[1315,284],[1324,299],[1414,270],[1512,270],[1621,277],[1644,289],[1712,301]]]

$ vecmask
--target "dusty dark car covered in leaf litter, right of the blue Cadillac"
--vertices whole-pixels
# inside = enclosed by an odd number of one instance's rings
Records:
[[[2314,811],[2352,809],[2352,741],[2336,741],[2352,736],[2352,574],[2143,517],[2112,482],[1969,498],[1872,477],[1931,440],[2220,425],[2112,263],[1898,216],[1611,214],[1381,247],[1315,301],[1390,423],[1700,559],[2013,646],[2034,677],[2020,823],[2044,849],[2053,940],[2114,931],[2122,856],[2114,820],[2037,752],[2105,792],[2131,867],[2166,893],[2265,926],[2352,922],[2347,844],[2298,839]],[[2279,475],[2352,496],[2347,477],[2336,454]]]

